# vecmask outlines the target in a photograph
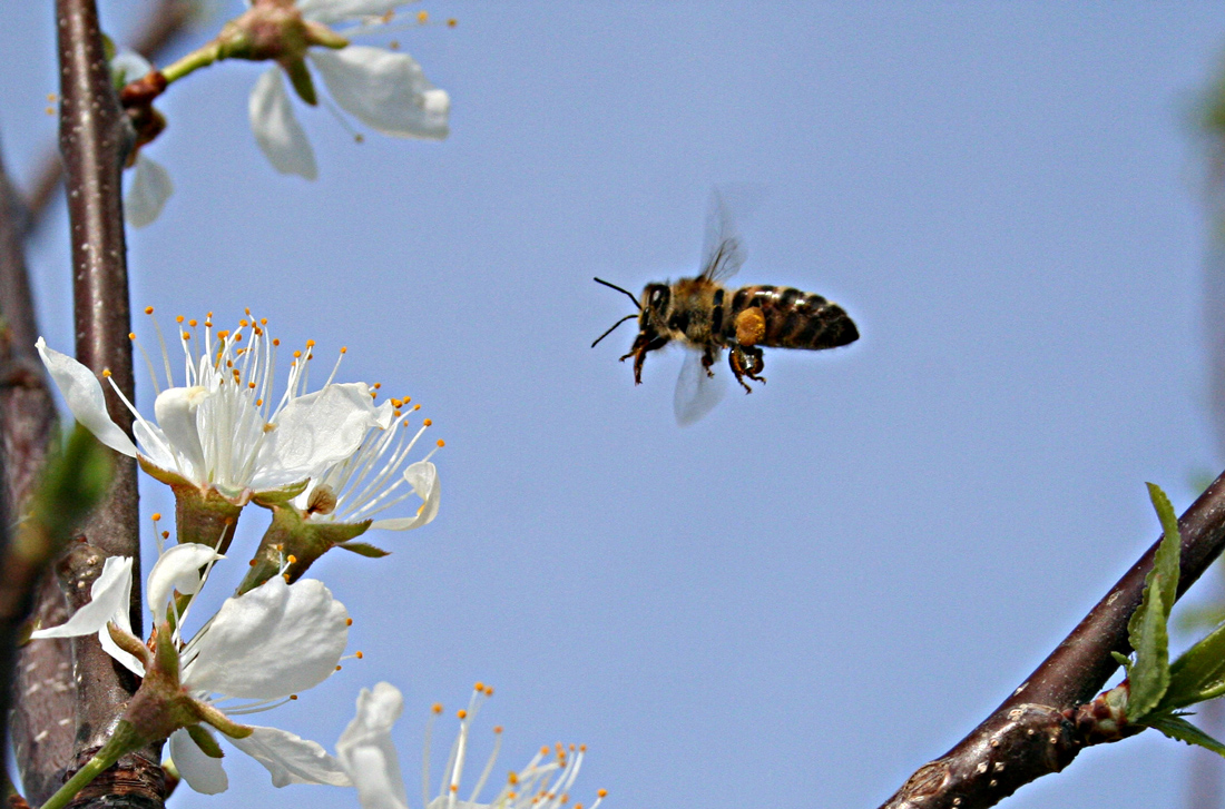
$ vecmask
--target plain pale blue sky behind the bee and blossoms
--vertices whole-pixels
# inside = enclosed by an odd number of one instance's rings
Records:
[[[1155,539],[1144,481],[1181,509],[1225,461],[1191,124],[1219,4],[420,7],[459,21],[397,34],[452,94],[445,143],[356,146],[299,106],[310,184],[251,138],[262,65],[159,102],[148,153],[176,195],[130,236],[134,304],[163,324],[251,306],[326,362],[348,345],[349,378],[409,393],[447,441],[432,525],[315,568],[366,658],[258,720],[331,748],[356,689],[396,683],[419,807],[428,706],[481,679],[499,771],[586,742],[584,804],[876,807]],[[140,12],[104,4],[120,39]],[[24,181],[55,131],[49,4],[5,4],[0,53]],[[737,280],[827,295],[862,339],[767,351],[769,384],[681,430],[680,351],[636,389],[628,326],[588,348],[628,311],[590,278],[693,274],[726,182],[764,188]],[[65,229],[60,202],[29,258],[70,350]],[[243,520],[254,543],[263,515]],[[1177,805],[1189,760],[1147,733],[1007,805]],[[247,805],[356,807],[227,766]]]

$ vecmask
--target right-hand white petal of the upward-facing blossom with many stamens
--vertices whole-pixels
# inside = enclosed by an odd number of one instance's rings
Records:
[[[330,384],[298,397],[277,416],[271,441],[260,454],[261,474],[251,488],[265,491],[299,481],[344,460],[379,419],[370,389],[360,382]]]

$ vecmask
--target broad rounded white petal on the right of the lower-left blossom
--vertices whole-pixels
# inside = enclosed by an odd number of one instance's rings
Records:
[[[272,576],[227,598],[186,666],[187,688],[245,699],[278,699],[318,685],[336,671],[349,628],[344,605],[316,579]]]

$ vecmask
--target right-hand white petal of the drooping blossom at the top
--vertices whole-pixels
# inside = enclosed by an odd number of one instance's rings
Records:
[[[408,54],[349,45],[314,48],[307,55],[336,103],[368,126],[399,137],[447,136],[451,98],[425,78]]]

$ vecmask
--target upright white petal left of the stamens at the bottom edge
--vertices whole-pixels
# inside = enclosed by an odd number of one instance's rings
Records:
[[[404,699],[391,683],[358,695],[358,714],[336,743],[341,764],[358,788],[363,809],[405,809],[408,797],[391,727],[404,710]]]

